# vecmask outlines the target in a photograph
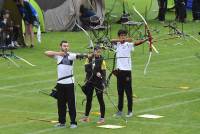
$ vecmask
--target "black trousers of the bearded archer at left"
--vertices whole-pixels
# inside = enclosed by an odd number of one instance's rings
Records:
[[[77,124],[74,84],[57,83],[56,89],[58,91],[57,106],[58,106],[59,123],[64,124],[66,122],[66,112],[67,112],[66,104],[67,104],[69,109],[71,124]]]

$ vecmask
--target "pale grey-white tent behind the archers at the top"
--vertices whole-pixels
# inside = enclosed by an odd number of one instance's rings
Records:
[[[92,8],[97,16],[104,17],[104,0],[36,0],[44,11],[47,31],[70,31],[75,22],[80,24],[80,5]]]

